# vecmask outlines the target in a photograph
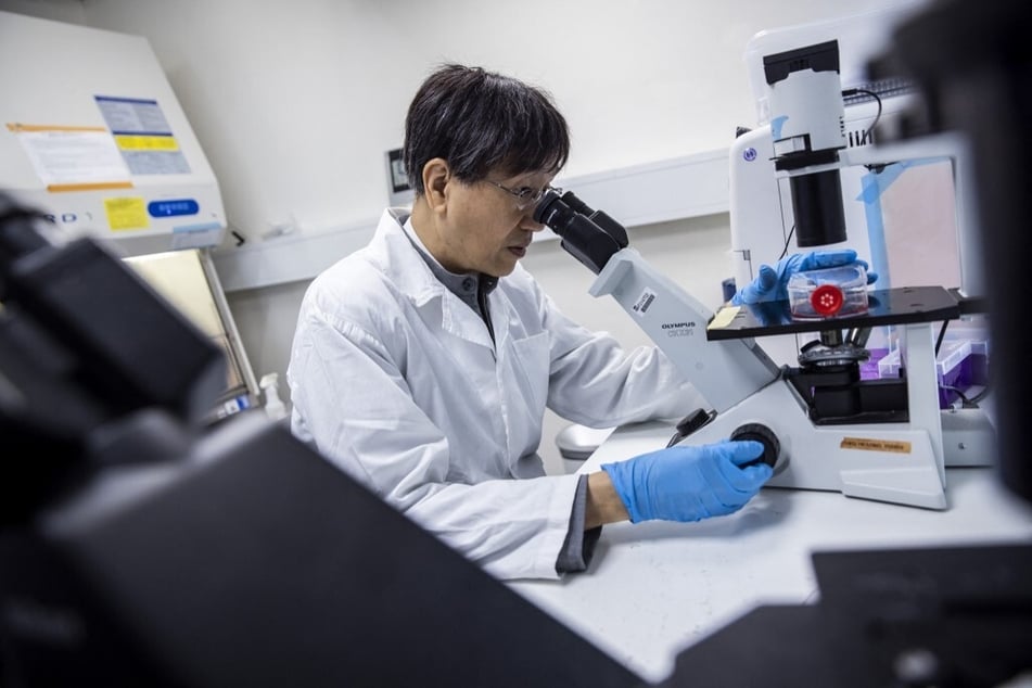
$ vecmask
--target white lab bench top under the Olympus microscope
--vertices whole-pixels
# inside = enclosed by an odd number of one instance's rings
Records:
[[[616,429],[581,472],[664,447],[672,434],[663,423]],[[587,572],[510,587],[659,681],[680,650],[757,604],[816,601],[813,551],[1032,544],[1032,507],[993,469],[947,469],[946,493],[948,508],[933,511],[764,488],[729,517],[607,525]]]

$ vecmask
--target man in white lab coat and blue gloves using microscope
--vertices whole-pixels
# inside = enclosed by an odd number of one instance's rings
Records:
[[[313,281],[288,370],[296,436],[502,578],[582,571],[604,523],[731,513],[770,476],[755,442],[545,475],[546,406],[602,428],[702,405],[659,349],[579,327],[519,266],[569,150],[543,91],[433,73],[406,117],[411,213],[385,211],[368,246]],[[854,258],[792,256],[737,297],[783,295],[791,270]]]

